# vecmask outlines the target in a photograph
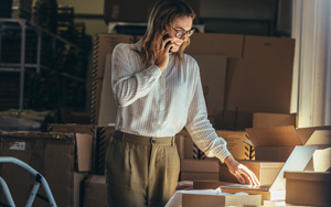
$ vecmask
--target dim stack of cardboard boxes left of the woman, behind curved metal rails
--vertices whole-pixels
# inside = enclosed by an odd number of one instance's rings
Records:
[[[50,124],[49,131],[0,133],[0,156],[17,157],[41,173],[57,206],[107,206],[105,155],[114,127]],[[15,205],[24,206],[34,177],[17,165],[0,166]],[[34,206],[45,204],[35,198]]]

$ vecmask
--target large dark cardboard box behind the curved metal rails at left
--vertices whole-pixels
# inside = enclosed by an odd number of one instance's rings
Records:
[[[73,134],[0,133],[0,156],[17,157],[42,174],[57,206],[79,206],[79,184],[86,174],[74,172],[77,159],[75,148],[79,145],[76,145]],[[15,205],[25,206],[35,177],[19,165],[10,163],[0,164],[0,175],[7,182]],[[45,196],[42,189],[39,194]],[[1,200],[6,200],[3,195]],[[44,200],[35,198],[33,206],[45,206],[45,204]]]

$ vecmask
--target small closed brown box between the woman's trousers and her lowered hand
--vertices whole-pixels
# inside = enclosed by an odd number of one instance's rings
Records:
[[[181,160],[181,181],[217,179],[218,160]]]

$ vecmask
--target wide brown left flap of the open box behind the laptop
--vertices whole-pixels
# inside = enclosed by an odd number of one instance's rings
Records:
[[[293,126],[246,129],[254,146],[302,145]]]

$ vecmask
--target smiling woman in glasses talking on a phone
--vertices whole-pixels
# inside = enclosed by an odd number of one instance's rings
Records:
[[[158,1],[143,37],[114,48],[111,86],[118,110],[106,156],[114,207],[167,204],[180,171],[174,135],[183,128],[207,156],[225,162],[241,183],[244,175],[258,184],[207,120],[199,66],[183,54],[194,32],[194,17],[182,0]]]

